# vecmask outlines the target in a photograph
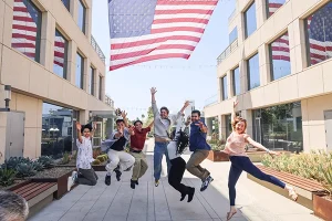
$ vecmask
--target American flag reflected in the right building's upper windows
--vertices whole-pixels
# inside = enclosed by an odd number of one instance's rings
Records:
[[[270,2],[269,14],[272,15],[283,3]],[[332,3],[328,3],[307,19],[310,42],[310,61],[317,64],[332,57]],[[290,61],[289,38],[282,35],[272,43],[272,59]]]

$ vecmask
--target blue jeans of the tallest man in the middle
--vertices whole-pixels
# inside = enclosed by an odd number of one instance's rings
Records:
[[[170,162],[169,162],[169,158],[168,158],[167,145],[168,145],[168,143],[158,143],[158,141],[155,143],[155,149],[154,149],[154,177],[155,177],[155,180],[160,179],[162,161],[163,161],[164,155],[166,155],[167,172],[169,172]]]

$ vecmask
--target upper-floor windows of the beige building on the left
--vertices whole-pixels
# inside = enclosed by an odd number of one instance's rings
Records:
[[[70,0],[62,0],[64,6],[70,9]],[[85,8],[81,0],[80,12],[85,17]],[[79,15],[80,17],[80,15]],[[31,60],[40,62],[40,44],[41,44],[41,23],[42,13],[33,4],[31,0],[15,1],[13,7],[13,24],[12,24],[12,42],[11,46],[19,52],[23,53]],[[79,23],[81,30],[84,30],[84,22]],[[68,80],[68,48],[69,41],[63,34],[55,29],[54,36],[54,61],[53,72],[54,74]],[[87,71],[87,70],[86,70]],[[76,70],[75,70],[75,85],[80,88],[83,87],[84,78],[84,56],[76,53]],[[98,98],[102,99],[102,83],[103,77],[100,76],[100,93]],[[95,96],[95,69],[90,67],[89,78],[89,93]]]

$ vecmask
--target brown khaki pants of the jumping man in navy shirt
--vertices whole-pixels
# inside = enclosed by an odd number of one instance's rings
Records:
[[[191,156],[190,159],[188,160],[186,168],[187,170],[198,177],[199,179],[201,179],[201,181],[204,181],[209,175],[210,172],[200,167],[200,162],[203,162],[209,155],[210,150],[206,150],[206,149],[197,149],[195,150]]]

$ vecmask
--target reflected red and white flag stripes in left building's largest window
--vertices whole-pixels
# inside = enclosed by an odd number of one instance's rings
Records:
[[[22,0],[14,0],[11,46],[34,60],[37,24]]]

